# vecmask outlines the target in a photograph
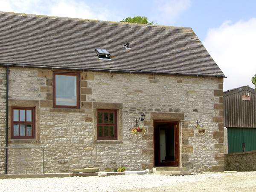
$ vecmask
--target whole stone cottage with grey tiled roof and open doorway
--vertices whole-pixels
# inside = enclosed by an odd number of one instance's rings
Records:
[[[47,173],[224,171],[224,77],[191,28],[0,12],[0,146],[44,146]],[[6,169],[41,151],[0,149]]]

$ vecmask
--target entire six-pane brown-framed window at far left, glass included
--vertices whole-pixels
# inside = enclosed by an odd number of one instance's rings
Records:
[[[35,138],[35,107],[12,107],[12,139]]]

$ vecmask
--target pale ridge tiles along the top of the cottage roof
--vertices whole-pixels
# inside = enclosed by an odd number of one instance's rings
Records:
[[[122,25],[128,24],[128,25],[135,25],[135,26],[155,26],[155,27],[177,28],[177,29],[192,29],[191,27],[182,27],[182,26],[177,27],[177,26],[148,25],[148,24],[142,24],[142,23],[104,21],[104,20],[82,19],[82,18],[74,18],[74,17],[59,17],[59,16],[39,15],[39,14],[15,13],[15,12],[6,12],[6,11],[0,11],[0,14],[20,15],[20,16],[29,16],[29,17],[46,17],[49,19],[62,19],[62,20],[93,21],[93,22],[98,22],[98,23],[117,23],[117,24],[122,24]]]

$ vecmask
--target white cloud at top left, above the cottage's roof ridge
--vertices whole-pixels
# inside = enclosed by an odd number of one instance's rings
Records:
[[[74,17],[97,20],[122,20],[108,5],[97,2],[85,3],[84,0],[0,0],[0,11],[41,14],[59,17]]]

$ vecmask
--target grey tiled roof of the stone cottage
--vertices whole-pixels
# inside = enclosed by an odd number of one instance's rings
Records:
[[[107,49],[111,60],[94,49]],[[6,12],[0,65],[224,77],[191,28]]]

